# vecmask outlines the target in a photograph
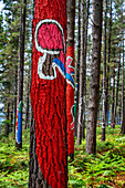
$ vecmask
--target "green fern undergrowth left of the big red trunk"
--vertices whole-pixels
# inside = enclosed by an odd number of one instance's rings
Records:
[[[22,149],[14,147],[13,135],[0,137],[0,187],[28,187],[29,179],[29,130],[23,130]]]

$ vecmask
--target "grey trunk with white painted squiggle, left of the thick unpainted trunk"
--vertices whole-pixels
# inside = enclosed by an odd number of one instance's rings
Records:
[[[84,56],[84,35],[85,35],[85,0],[82,0],[81,9],[81,62],[80,62],[80,91],[79,91],[79,124],[77,124],[77,146],[82,143],[83,117],[85,113],[85,56]]]

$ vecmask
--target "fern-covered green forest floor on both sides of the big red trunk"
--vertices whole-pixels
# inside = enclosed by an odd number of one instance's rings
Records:
[[[75,146],[75,159],[69,163],[69,188],[124,188],[125,136],[121,126],[106,127],[106,140],[101,140],[97,127],[96,156],[85,154],[85,140]],[[27,188],[29,180],[30,130],[23,130],[21,150],[14,147],[13,135],[0,136],[0,187]]]

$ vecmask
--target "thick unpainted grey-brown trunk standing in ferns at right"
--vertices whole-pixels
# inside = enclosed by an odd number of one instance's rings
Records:
[[[101,39],[103,0],[93,0],[91,91],[86,126],[86,148],[88,154],[96,152],[96,123],[100,93]]]

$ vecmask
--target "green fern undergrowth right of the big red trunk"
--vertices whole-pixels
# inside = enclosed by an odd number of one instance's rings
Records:
[[[69,164],[69,188],[125,187],[125,136],[119,132],[119,125],[106,127],[106,140],[102,142],[97,127],[95,156],[85,154],[85,140],[75,146],[75,159]]]

